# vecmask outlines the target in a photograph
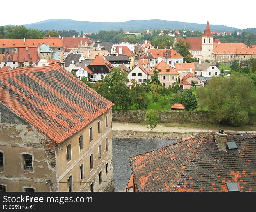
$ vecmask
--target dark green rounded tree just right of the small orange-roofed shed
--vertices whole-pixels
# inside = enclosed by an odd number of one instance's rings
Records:
[[[185,106],[186,110],[195,110],[197,108],[197,99],[196,95],[193,94],[191,89],[184,90],[181,93],[180,102]]]

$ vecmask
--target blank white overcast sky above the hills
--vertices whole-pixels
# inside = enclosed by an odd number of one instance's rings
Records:
[[[152,3],[151,3],[152,2]],[[31,24],[49,19],[72,19],[91,22],[124,22],[161,19],[188,23],[226,25],[239,29],[256,28],[255,14],[249,6],[255,1],[226,0],[97,0],[1,1],[0,26]],[[254,5],[254,6],[253,6]]]

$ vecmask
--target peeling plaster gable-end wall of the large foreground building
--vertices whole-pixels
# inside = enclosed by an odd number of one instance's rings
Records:
[[[54,185],[46,184],[56,181],[55,148],[51,139],[0,102],[0,151],[5,162],[0,184],[6,191],[23,191],[24,186],[55,191]],[[33,171],[24,170],[23,154],[32,155]]]

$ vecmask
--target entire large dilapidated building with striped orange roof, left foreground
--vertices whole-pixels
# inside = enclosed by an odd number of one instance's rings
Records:
[[[113,191],[113,103],[58,64],[2,71],[0,93],[0,191]]]

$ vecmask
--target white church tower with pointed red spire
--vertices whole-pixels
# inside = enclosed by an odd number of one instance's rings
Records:
[[[202,35],[202,62],[205,62],[205,60],[214,61],[213,35],[211,34],[208,21],[206,24],[205,33]]]

